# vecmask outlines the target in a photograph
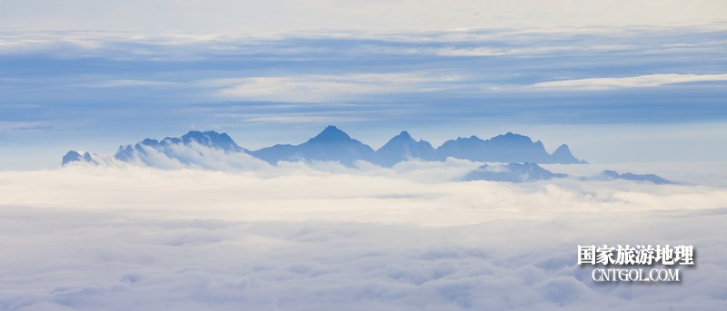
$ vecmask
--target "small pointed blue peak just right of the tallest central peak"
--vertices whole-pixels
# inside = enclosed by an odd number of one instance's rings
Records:
[[[409,132],[402,131],[376,151],[376,163],[386,167],[404,160],[441,160],[432,144],[427,141],[414,141]]]

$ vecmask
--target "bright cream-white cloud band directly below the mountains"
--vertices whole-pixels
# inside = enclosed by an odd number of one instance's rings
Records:
[[[373,221],[449,226],[498,219],[512,213],[513,217],[525,213],[527,218],[538,218],[583,210],[637,212],[719,209],[727,205],[727,192],[709,185],[658,186],[570,179],[527,184],[452,181],[460,180],[477,165],[466,160],[414,161],[400,163],[393,169],[367,164],[349,169],[325,162],[310,166],[289,163],[281,167],[261,165],[235,173],[75,166],[5,172],[0,185],[6,193],[4,205],[69,209],[154,207],[174,209],[175,215],[184,218],[246,221]],[[722,170],[722,178],[724,173]],[[64,186],[60,187],[61,184]],[[44,195],[33,195],[35,192]],[[694,204],[697,201],[700,203]],[[199,209],[201,204],[204,209]],[[401,215],[391,218],[392,212]]]

